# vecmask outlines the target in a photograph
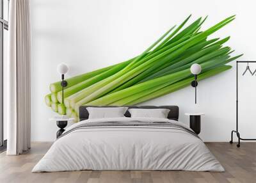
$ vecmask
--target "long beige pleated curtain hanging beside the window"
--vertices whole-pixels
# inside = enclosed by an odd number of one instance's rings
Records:
[[[7,151],[18,155],[31,143],[31,30],[29,0],[10,0],[7,63]]]

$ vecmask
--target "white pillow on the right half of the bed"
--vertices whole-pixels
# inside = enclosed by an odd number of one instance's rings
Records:
[[[170,109],[128,109],[131,118],[167,118]]]

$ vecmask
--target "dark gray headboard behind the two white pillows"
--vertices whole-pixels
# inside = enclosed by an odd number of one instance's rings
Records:
[[[79,121],[87,120],[89,113],[86,107],[117,107],[117,106],[81,106],[79,107]],[[179,120],[179,107],[178,106],[126,106],[129,108],[141,108],[141,109],[170,109],[168,119]],[[126,117],[131,117],[129,111],[125,113]]]

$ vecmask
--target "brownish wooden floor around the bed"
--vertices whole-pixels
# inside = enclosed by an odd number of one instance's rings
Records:
[[[18,156],[0,154],[0,182],[256,182],[256,143],[206,143],[224,166],[225,172],[194,171],[65,171],[31,173],[51,143],[33,143],[31,150]]]

